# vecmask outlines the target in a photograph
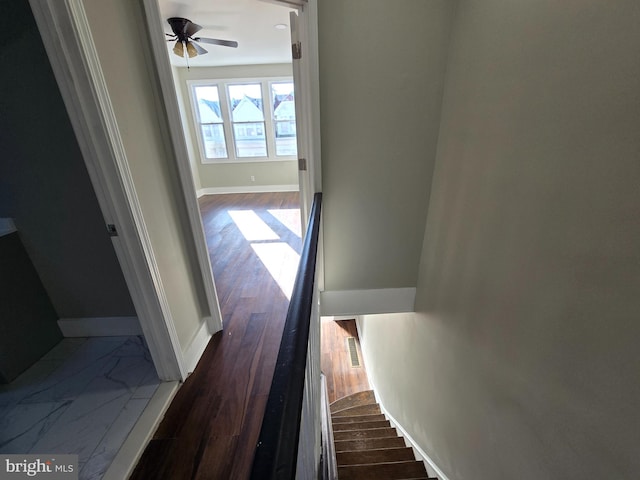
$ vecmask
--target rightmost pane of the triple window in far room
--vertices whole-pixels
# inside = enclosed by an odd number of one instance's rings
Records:
[[[276,155],[296,155],[296,108],[293,82],[272,83],[271,102],[276,129]]]

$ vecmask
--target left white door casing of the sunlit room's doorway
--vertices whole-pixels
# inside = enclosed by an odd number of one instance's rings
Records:
[[[204,284],[204,293],[208,304],[206,307],[210,312],[210,315],[206,318],[208,319],[209,330],[215,333],[222,330],[222,313],[220,312],[218,293],[211,270],[211,258],[209,257],[209,248],[207,247],[204,227],[202,225],[200,207],[198,206],[198,200],[196,198],[193,172],[187,160],[189,158],[189,150],[183,134],[182,117],[176,87],[173,81],[173,73],[168,59],[164,36],[156,35],[155,33],[157,32],[150,28],[151,25],[160,25],[162,23],[157,0],[144,0],[144,14],[147,20],[149,41],[155,60],[155,72],[157,73],[162,90],[161,98],[156,98],[156,102],[158,103],[159,111],[166,109],[167,112],[166,120],[169,124],[168,143],[170,143],[171,150],[174,152],[176,158],[175,163],[178,167],[180,185],[185,199],[189,225],[191,226],[191,232],[193,234],[197,262]],[[185,161],[179,161],[179,159],[185,159]]]

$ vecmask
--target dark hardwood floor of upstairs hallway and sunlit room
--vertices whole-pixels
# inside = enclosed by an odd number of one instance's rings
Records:
[[[286,284],[290,251],[300,252],[299,236],[287,227],[295,230],[297,216],[299,228],[299,213],[291,211],[299,208],[298,198],[200,199],[224,329],[178,390],[132,479],[248,478],[289,304],[274,276]],[[238,211],[244,213],[233,213]],[[243,234],[240,224],[249,220],[257,230]],[[263,262],[259,255],[269,252]]]

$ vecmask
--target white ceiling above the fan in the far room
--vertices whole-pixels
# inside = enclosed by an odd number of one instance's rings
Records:
[[[190,67],[291,62],[289,8],[261,0],[158,0],[158,6],[163,20],[158,33],[171,33],[167,18],[184,17],[203,27],[197,36],[238,42],[238,48],[200,44],[209,53],[190,58]],[[277,24],[287,28],[278,30]],[[171,63],[185,67],[173,45],[167,42]]]

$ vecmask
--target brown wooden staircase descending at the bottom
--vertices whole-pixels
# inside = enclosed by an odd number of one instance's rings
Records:
[[[372,390],[336,400],[330,409],[338,480],[431,479],[380,411]]]

